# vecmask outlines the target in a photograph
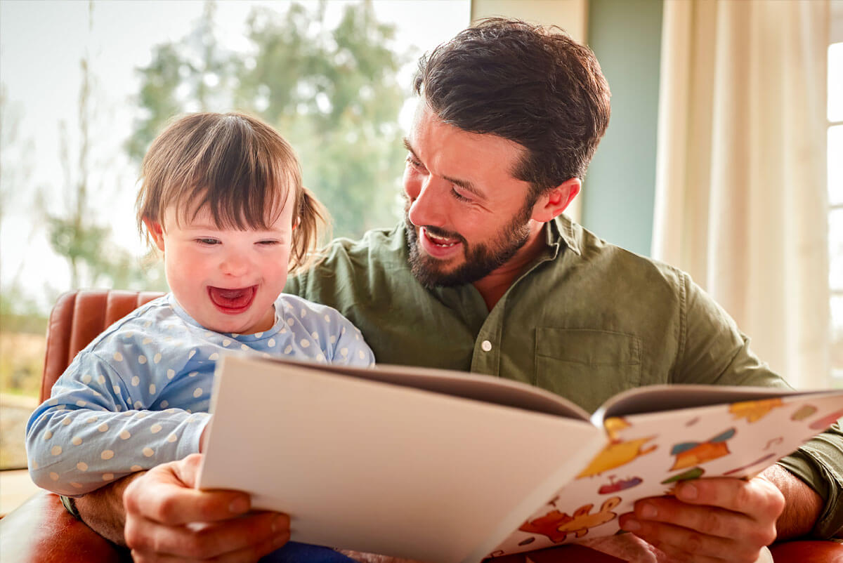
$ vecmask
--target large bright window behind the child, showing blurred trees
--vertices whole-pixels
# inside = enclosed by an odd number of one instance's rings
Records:
[[[335,235],[389,227],[416,58],[470,20],[469,0],[159,8],[0,2],[0,469],[26,463],[56,297],[166,288],[140,260],[133,207],[170,115],[261,115],[296,148]]]

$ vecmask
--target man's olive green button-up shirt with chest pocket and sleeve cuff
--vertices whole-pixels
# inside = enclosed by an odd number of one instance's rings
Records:
[[[338,239],[286,292],[339,309],[379,363],[442,367],[537,385],[596,410],[656,383],[787,388],[690,276],[606,243],[566,217],[491,311],[471,285],[422,287],[403,224]],[[815,534],[843,527],[843,432],[781,462],[826,501]]]

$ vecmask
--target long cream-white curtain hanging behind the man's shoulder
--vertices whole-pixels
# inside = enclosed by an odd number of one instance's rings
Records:
[[[666,0],[652,253],[797,388],[830,381],[828,0]]]

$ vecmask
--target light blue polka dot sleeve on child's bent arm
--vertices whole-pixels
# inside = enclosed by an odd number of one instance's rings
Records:
[[[82,496],[199,451],[210,415],[148,410],[165,382],[154,370],[140,373],[121,377],[99,353],[78,354],[27,423],[27,456],[36,485]]]

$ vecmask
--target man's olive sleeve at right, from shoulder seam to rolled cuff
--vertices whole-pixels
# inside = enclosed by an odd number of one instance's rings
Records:
[[[683,312],[675,383],[713,383],[759,387],[791,386],[749,348],[749,339],[706,292],[683,279]],[[779,461],[824,500],[813,534],[830,538],[843,528],[843,432],[840,424],[803,444]]]

